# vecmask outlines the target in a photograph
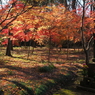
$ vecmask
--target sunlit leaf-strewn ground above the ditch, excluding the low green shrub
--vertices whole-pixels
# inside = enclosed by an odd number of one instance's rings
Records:
[[[4,53],[4,49],[2,52]],[[68,60],[66,49],[62,49],[60,54],[55,49],[51,50],[50,56],[48,56],[47,48],[35,48],[33,54],[31,52],[32,50],[30,50],[28,56],[27,50],[19,50],[18,47],[12,51],[13,57],[1,56],[0,86],[5,89],[6,93],[8,89],[11,89],[11,91],[14,89],[15,91],[20,90],[15,87],[12,89],[12,85],[14,85],[12,81],[24,82],[26,86],[35,90],[46,81],[59,77],[60,74],[66,75],[70,73],[77,75],[77,71],[82,68],[82,64],[84,63],[83,54],[81,55],[80,52],[74,50],[69,50]],[[48,57],[50,57],[50,63],[48,63]],[[39,72],[40,67],[51,64],[56,67],[52,72]]]

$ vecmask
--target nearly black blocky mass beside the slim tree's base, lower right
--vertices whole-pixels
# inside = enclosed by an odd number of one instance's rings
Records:
[[[95,92],[95,62],[88,64],[87,76],[80,81],[80,86],[77,88]]]

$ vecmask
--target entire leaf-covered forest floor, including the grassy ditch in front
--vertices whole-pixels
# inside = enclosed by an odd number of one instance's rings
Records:
[[[46,47],[14,47],[12,57],[5,56],[5,47],[0,51],[0,89],[4,95],[95,95],[76,89],[85,63],[82,49],[49,52]],[[48,65],[54,66],[53,70],[46,68]],[[42,67],[48,69],[47,72],[41,71]],[[55,81],[60,76],[65,76],[62,86]],[[50,89],[45,86],[47,83]]]

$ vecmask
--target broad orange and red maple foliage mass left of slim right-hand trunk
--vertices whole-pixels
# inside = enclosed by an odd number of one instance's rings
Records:
[[[17,7],[23,7],[22,4]],[[85,27],[92,19],[86,19]],[[81,17],[65,10],[63,5],[34,7],[20,15],[8,27],[13,37],[20,41],[35,39],[38,43],[49,40],[61,43],[62,40],[80,40]],[[90,24],[93,27],[93,24]]]

